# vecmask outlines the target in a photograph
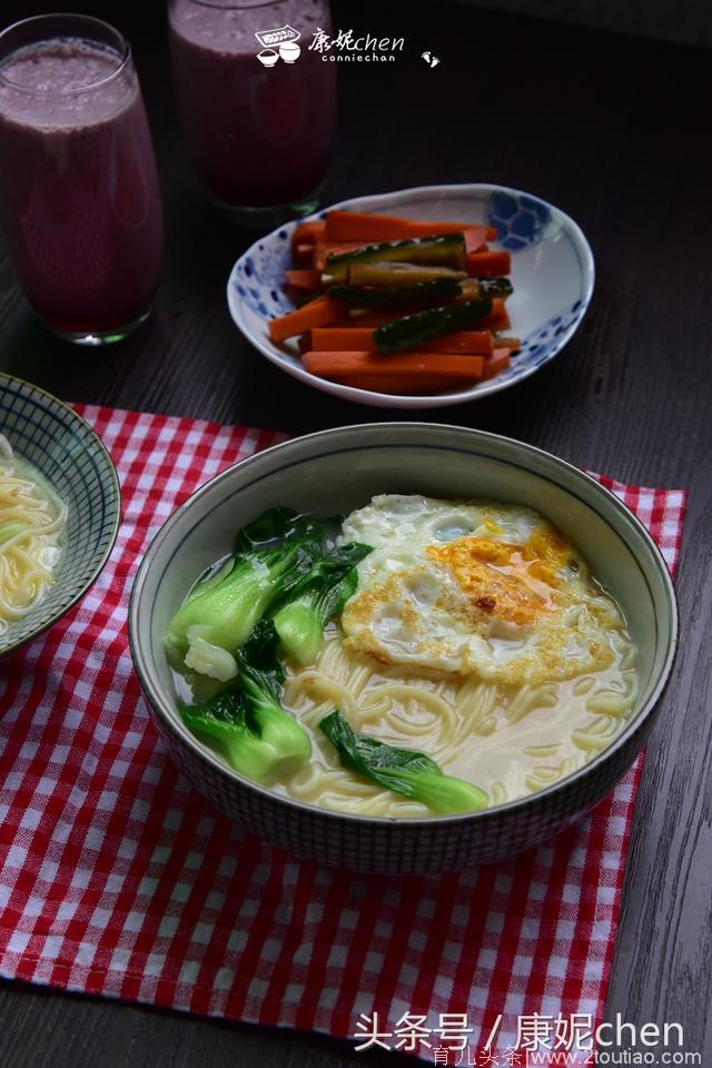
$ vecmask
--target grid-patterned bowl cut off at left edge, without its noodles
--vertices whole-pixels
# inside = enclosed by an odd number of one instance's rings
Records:
[[[0,433],[69,508],[55,585],[0,636],[6,656],[56,623],[95,582],[116,541],[121,494],[111,457],[89,424],[51,394],[3,374]]]

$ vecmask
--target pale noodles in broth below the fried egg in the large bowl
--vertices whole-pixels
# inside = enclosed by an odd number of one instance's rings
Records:
[[[615,663],[564,682],[507,686],[477,676],[383,666],[343,644],[332,627],[314,668],[291,669],[284,693],[313,740],[312,762],[276,789],[339,812],[425,817],[422,804],[340,765],[319,731],[338,709],[353,729],[426,752],[446,774],[475,782],[504,804],[572,774],[605,749],[637,692],[635,646],[615,632]]]

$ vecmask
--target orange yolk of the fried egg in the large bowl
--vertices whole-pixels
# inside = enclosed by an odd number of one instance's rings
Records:
[[[427,554],[449,567],[455,582],[482,612],[528,626],[556,607],[556,575],[568,546],[554,531],[535,531],[527,543],[512,545],[488,537],[458,537],[429,545]]]

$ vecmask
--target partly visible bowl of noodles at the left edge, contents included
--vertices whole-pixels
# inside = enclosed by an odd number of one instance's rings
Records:
[[[87,592],[119,513],[117,474],[91,427],[43,389],[0,374],[0,656]]]

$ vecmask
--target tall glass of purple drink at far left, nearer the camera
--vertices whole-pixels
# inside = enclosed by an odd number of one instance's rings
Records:
[[[0,33],[0,218],[56,334],[101,345],[147,318],[158,175],[129,46],[100,19],[39,16]]]

